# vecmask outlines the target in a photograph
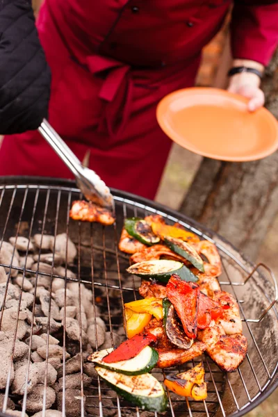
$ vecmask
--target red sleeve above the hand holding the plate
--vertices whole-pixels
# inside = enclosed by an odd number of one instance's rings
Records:
[[[235,0],[231,17],[234,58],[267,65],[278,44],[278,1]]]

